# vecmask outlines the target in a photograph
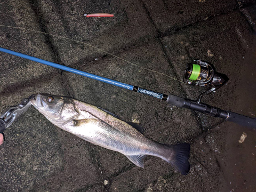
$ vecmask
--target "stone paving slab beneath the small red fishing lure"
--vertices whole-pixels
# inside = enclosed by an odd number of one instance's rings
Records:
[[[65,36],[84,42],[101,50],[115,53],[137,42],[147,41],[156,35],[140,1],[106,1],[98,3],[41,1],[40,15],[47,33]],[[104,7],[104,9],[102,9]],[[84,13],[95,11],[113,13],[113,18],[86,18]],[[49,19],[51,18],[51,19]],[[85,44],[53,38],[62,63],[70,65],[79,61],[92,61],[106,55]]]

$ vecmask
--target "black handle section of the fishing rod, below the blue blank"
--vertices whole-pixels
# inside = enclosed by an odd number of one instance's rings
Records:
[[[190,101],[188,99],[184,99],[172,94],[168,95],[166,102],[170,105],[183,107],[187,109],[193,109],[203,114],[208,114],[213,117],[220,117],[226,119],[226,121],[234,122],[242,126],[248,126],[252,129],[256,129],[256,119],[236,114],[231,111],[225,111],[217,107],[212,107],[205,103]]]

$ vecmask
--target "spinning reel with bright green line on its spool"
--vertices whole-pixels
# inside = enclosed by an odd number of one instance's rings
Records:
[[[189,63],[185,69],[183,81],[188,85],[209,87],[207,91],[197,98],[197,103],[200,103],[203,95],[219,89],[227,83],[228,77],[225,74],[217,73],[210,63],[194,60],[194,63]]]

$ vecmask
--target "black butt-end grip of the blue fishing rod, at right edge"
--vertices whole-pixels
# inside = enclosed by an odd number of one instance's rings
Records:
[[[256,129],[256,119],[247,117],[244,115],[236,114],[234,112],[228,111],[229,117],[227,121],[237,123],[242,126],[250,127],[251,129]]]

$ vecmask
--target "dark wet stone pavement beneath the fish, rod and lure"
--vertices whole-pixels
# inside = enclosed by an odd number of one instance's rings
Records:
[[[253,0],[0,0],[0,25],[30,29],[0,26],[0,46],[189,99],[204,89],[173,78],[182,81],[187,63],[201,59],[229,77],[203,102],[255,118],[255,10]],[[95,12],[114,17],[84,17]],[[141,169],[31,107],[5,131],[0,191],[256,191],[255,130],[6,53],[0,70],[1,111],[33,93],[65,95],[140,122],[158,142],[191,144],[188,175],[152,156]]]

